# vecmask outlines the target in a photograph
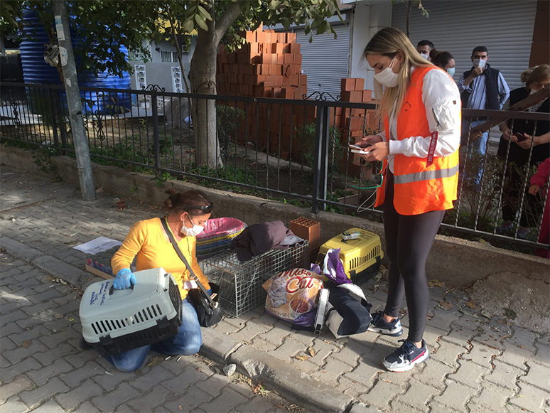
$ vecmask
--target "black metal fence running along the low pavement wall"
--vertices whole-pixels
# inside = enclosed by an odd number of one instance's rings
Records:
[[[0,82],[0,137],[55,149],[74,156],[63,87]],[[83,117],[92,161],[134,171],[154,173],[159,179],[175,176],[234,191],[249,191],[318,210],[354,213],[371,219],[380,183],[379,165],[370,165],[347,149],[364,132],[378,132],[374,104],[337,102],[318,94],[307,100],[220,95],[187,95],[147,90],[81,88]],[[337,98],[338,99],[338,98]],[[207,129],[215,159],[198,162],[190,107],[213,101],[216,125]],[[208,107],[208,105],[206,105]],[[463,120],[505,115],[514,122],[547,121],[547,114],[463,110]],[[535,132],[536,134],[536,132]],[[546,192],[530,195],[529,178],[536,165],[529,159],[516,165],[497,155],[489,132],[484,155],[464,142],[460,149],[458,200],[443,220],[443,232],[464,232],[523,247],[536,242],[541,230]],[[502,152],[502,151],[501,151]],[[169,175],[168,175],[169,174]],[[502,229],[502,208],[515,208],[512,227]],[[529,233],[523,236],[525,217]],[[520,222],[521,218],[521,222]],[[465,235],[468,237],[468,235]],[[525,238],[525,239],[524,239]]]

